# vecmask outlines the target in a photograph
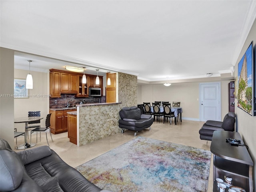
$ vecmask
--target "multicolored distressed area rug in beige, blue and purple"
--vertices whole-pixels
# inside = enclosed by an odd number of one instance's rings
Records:
[[[113,192],[206,192],[211,152],[138,136],[78,167]]]

